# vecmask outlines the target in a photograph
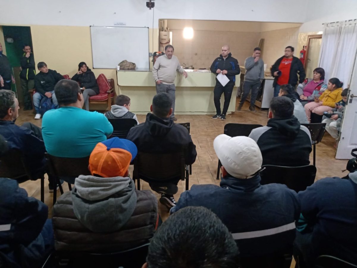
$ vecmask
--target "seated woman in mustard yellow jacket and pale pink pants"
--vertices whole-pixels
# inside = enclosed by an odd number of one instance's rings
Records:
[[[338,78],[328,80],[327,89],[323,91],[320,98],[315,96],[315,101],[304,106],[307,120],[310,123],[311,112],[322,115],[325,111],[331,111],[335,104],[342,100],[343,83]]]

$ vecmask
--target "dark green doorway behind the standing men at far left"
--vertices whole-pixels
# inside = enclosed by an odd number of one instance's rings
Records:
[[[21,64],[20,60],[24,51],[22,50],[24,44],[30,45],[31,52],[32,49],[32,38],[31,38],[31,28],[29,26],[0,26],[2,27],[2,32],[4,34],[6,56],[9,59],[10,65],[12,67],[12,73],[15,78],[15,84],[11,85],[11,90],[17,95],[19,103],[22,104],[24,101],[21,81],[20,81],[20,71]]]

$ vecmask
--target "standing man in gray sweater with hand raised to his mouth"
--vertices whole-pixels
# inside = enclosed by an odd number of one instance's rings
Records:
[[[245,60],[244,67],[246,73],[244,75],[243,94],[237,108],[238,111],[242,109],[243,103],[246,100],[249,91],[252,90],[249,110],[256,112],[255,100],[257,99],[260,84],[264,79],[264,61],[260,58],[260,53],[260,48],[255,48],[253,55]]]

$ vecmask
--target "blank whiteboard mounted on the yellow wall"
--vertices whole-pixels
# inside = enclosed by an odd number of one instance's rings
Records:
[[[93,68],[116,69],[123,60],[149,69],[149,28],[90,26]]]

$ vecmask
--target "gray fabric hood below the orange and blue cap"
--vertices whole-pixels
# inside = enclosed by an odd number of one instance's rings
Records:
[[[101,178],[80,175],[72,189],[73,211],[92,232],[114,232],[136,207],[135,183],[129,177]]]

